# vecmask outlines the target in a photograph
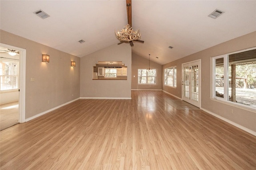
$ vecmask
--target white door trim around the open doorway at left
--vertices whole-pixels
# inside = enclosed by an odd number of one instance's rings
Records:
[[[25,94],[26,94],[26,49],[0,43],[1,47],[20,51],[19,62],[19,123],[25,122]]]

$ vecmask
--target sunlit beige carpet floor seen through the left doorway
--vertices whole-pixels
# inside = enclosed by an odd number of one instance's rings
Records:
[[[0,105],[0,130],[6,129],[18,123],[18,102]]]

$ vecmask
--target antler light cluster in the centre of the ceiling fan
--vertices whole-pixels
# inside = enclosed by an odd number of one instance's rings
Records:
[[[116,33],[116,30],[115,30]],[[116,38],[120,41],[132,41],[140,39],[140,29],[137,31],[134,31],[132,27],[127,24],[124,29],[121,29],[120,31],[117,31]]]

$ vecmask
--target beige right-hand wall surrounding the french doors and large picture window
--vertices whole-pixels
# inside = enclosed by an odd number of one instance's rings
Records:
[[[224,117],[238,125],[246,127],[254,132],[256,132],[256,113],[255,111],[248,111],[239,107],[230,106],[224,103],[216,102],[211,100],[211,74],[210,74],[210,59],[211,57],[231,53],[234,51],[239,51],[242,49],[248,49],[250,47],[256,47],[256,32],[232,39],[230,41],[221,43],[209,49],[200,51],[198,53],[189,55],[180,60],[173,61],[163,65],[164,68],[168,66],[177,65],[177,91],[168,88],[167,86],[162,86],[162,89],[166,92],[174,94],[178,97],[181,95],[181,64],[201,59],[201,107],[212,113],[215,113],[221,117]],[[232,113],[233,109],[233,113]]]

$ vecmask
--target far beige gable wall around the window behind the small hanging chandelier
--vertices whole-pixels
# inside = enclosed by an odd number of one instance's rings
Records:
[[[132,53],[132,89],[162,90],[162,65],[150,61],[150,68],[156,69],[156,84],[138,84],[138,69],[147,69],[148,59]]]

